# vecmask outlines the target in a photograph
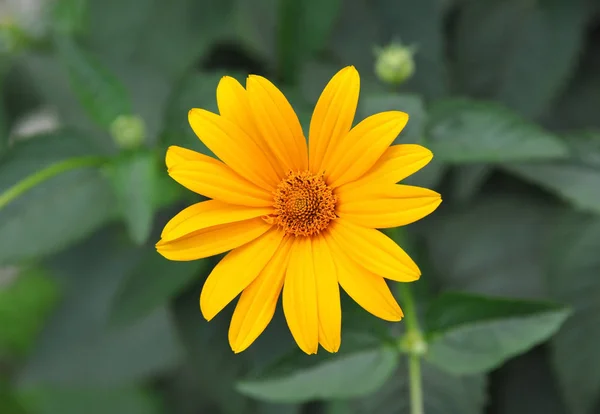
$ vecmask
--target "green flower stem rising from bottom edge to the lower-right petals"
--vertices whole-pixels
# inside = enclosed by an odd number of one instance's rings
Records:
[[[408,378],[410,387],[410,412],[411,414],[424,414],[423,388],[421,381],[421,355],[426,350],[423,340],[417,309],[410,288],[403,283],[398,284],[398,293],[402,298],[402,306],[405,312],[406,337],[403,348],[408,351]]]

